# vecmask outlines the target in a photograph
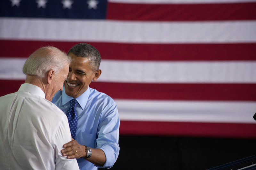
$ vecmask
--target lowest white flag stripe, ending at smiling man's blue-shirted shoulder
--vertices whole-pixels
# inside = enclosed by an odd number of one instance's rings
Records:
[[[118,100],[120,120],[256,123],[256,102]]]

